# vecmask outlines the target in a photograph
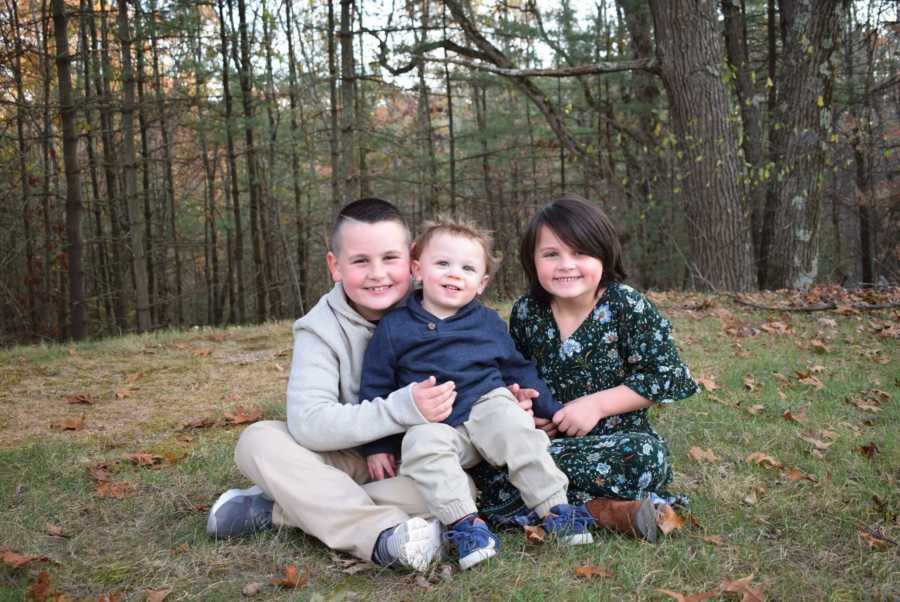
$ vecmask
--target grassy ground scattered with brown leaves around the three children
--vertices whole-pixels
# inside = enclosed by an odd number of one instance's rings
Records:
[[[695,375],[714,389],[654,411],[674,457],[674,489],[690,496],[697,526],[656,546],[600,533],[578,549],[506,533],[502,555],[486,566],[430,581],[372,567],[348,574],[297,530],[206,538],[203,505],[246,484],[232,461],[241,427],[182,426],[221,422],[237,405],[283,418],[289,323],[0,351],[0,551],[52,561],[0,563],[0,600],[23,599],[42,570],[74,599],[143,600],[169,589],[167,600],[234,600],[258,582],[262,597],[279,600],[667,600],[659,589],[699,593],[751,574],[768,599],[898,599],[900,554],[890,543],[900,540],[898,344],[879,333],[900,314],[655,298]],[[67,403],[76,394],[93,403]],[[866,396],[878,411],[848,402]],[[785,419],[788,411],[804,422]],[[81,430],[50,428],[82,415]],[[860,448],[871,443],[868,457]],[[694,460],[693,447],[716,459]],[[141,468],[126,458],[135,452],[168,460]],[[753,452],[784,468],[748,463]],[[99,463],[112,482],[130,483],[122,499],[98,495],[88,468]],[[791,480],[790,469],[815,481]],[[67,537],[49,535],[48,523]],[[703,539],[713,536],[723,543]],[[269,585],[291,563],[309,570],[308,583]],[[578,578],[586,565],[614,576]]]

